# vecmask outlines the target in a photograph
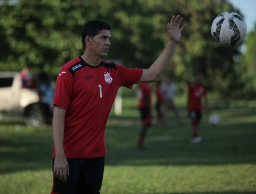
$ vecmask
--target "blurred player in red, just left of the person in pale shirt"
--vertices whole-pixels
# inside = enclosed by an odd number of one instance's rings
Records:
[[[161,81],[156,82],[156,125],[166,126],[165,99],[161,90]]]

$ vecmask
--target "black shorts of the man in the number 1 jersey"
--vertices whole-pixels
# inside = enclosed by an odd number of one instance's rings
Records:
[[[52,193],[59,194],[99,194],[103,179],[105,156],[95,158],[67,158],[69,175],[62,182],[53,177]],[[54,167],[54,159],[53,165]]]

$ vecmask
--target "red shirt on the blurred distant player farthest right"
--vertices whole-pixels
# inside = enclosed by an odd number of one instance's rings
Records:
[[[202,110],[201,97],[207,95],[207,89],[202,84],[188,85],[188,110]]]

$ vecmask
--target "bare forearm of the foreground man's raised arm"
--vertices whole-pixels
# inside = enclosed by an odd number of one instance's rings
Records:
[[[172,54],[176,47],[176,44],[177,43],[175,41],[168,41],[161,55],[156,59],[156,61],[148,69],[150,71],[152,80],[154,81],[158,80],[158,78],[160,77],[160,75],[168,65],[170,58],[172,57]]]

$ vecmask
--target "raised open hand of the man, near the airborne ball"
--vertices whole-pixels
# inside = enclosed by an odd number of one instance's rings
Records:
[[[169,33],[170,41],[179,42],[181,39],[181,31],[185,28],[186,24],[180,28],[183,18],[180,18],[180,15],[172,16],[170,23],[167,24],[167,31]]]

